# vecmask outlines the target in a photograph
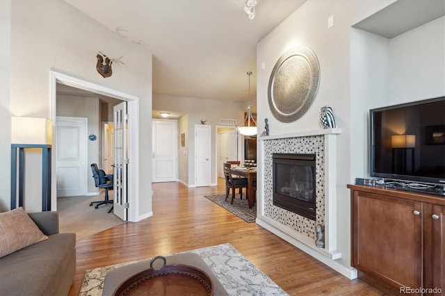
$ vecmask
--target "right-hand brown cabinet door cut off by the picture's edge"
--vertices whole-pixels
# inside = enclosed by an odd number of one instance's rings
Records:
[[[445,295],[445,206],[423,204],[423,288]]]

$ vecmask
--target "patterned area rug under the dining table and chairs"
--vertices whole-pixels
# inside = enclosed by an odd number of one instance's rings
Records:
[[[235,195],[234,204],[230,204],[230,200],[232,199],[231,195],[227,197],[227,202],[225,201],[225,195],[205,195],[205,197],[234,215],[237,215],[245,222],[252,223],[257,219],[257,207],[252,206],[252,208],[249,208],[249,203],[245,195],[243,195],[243,199],[240,199],[239,195]]]

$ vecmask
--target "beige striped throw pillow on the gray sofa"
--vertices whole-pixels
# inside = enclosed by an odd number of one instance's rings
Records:
[[[0,213],[0,258],[47,238],[22,207]]]

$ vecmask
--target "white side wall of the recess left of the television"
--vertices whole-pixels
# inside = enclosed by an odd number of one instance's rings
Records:
[[[369,176],[369,109],[389,101],[389,40],[351,28],[350,176]],[[352,181],[352,180],[351,180]]]

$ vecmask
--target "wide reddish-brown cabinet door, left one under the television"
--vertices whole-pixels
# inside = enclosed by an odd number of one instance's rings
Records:
[[[353,267],[383,290],[421,287],[422,204],[353,190]]]

